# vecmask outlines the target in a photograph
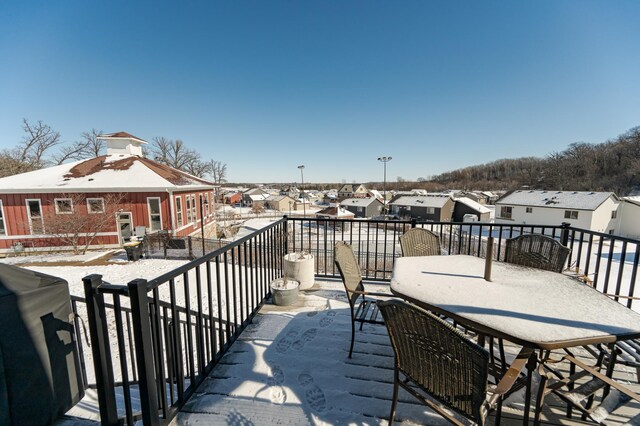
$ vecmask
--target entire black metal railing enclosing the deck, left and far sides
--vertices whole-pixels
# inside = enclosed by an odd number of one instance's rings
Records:
[[[265,302],[269,283],[281,274],[285,253],[309,252],[318,277],[337,278],[333,247],[346,241],[353,246],[365,279],[389,282],[400,256],[399,237],[411,227],[438,234],[443,254],[485,256],[488,237],[493,237],[496,260],[504,260],[509,238],[550,235],[571,248],[568,271],[637,308],[633,304],[638,299],[637,240],[568,224],[285,217],[150,281],[112,285],[99,275],[84,279],[101,421],[168,423]],[[76,311],[84,309],[79,303],[74,302]],[[76,329],[79,334],[78,325]],[[116,392],[124,401],[121,407],[116,405]]]

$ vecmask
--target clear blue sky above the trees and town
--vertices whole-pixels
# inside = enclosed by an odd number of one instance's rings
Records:
[[[180,138],[235,182],[414,180],[640,125],[638,1],[0,3],[22,118]]]

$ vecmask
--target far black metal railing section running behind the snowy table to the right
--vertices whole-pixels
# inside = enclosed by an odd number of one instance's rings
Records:
[[[316,274],[320,277],[338,276],[333,264],[333,246],[337,241],[352,245],[364,278],[388,281],[394,259],[401,253],[399,237],[411,227],[423,227],[438,234],[445,254],[484,257],[487,239],[491,236],[496,260],[504,260],[507,239],[540,233],[571,248],[567,270],[629,308],[640,304],[634,305],[638,300],[635,287],[640,241],[631,238],[574,228],[566,223],[549,226],[308,218],[288,218],[288,221],[288,251],[313,254]]]

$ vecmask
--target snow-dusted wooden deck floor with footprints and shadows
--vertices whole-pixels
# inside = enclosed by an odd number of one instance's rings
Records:
[[[375,287],[368,289],[386,286]],[[340,281],[316,281],[292,307],[265,305],[172,424],[387,424],[393,350],[386,329],[365,324],[351,359],[350,333]],[[636,380],[632,371],[616,377]],[[521,399],[505,402],[502,424],[522,424]],[[403,390],[399,401],[397,423],[447,424]],[[587,423],[567,419],[557,400],[546,402],[544,424]],[[637,405],[621,408],[607,424],[624,424],[639,412]]]

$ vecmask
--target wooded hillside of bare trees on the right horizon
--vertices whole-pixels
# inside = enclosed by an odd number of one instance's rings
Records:
[[[468,190],[528,186],[626,195],[640,187],[640,127],[604,143],[572,143],[546,158],[504,159],[465,167],[434,176],[428,183]]]

